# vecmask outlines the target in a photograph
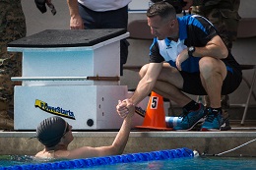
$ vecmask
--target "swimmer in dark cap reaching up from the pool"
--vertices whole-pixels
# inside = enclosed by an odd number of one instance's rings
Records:
[[[74,140],[72,126],[61,117],[53,116],[43,120],[36,129],[36,138],[44,145],[44,149],[36,153],[35,158],[77,159],[122,154],[130,135],[132,117],[135,113],[135,106],[131,101],[129,99],[124,101],[127,108],[126,115],[122,115],[124,118],[122,126],[111,145],[82,146],[69,150],[68,145]],[[119,101],[119,104],[122,105],[123,102]]]

